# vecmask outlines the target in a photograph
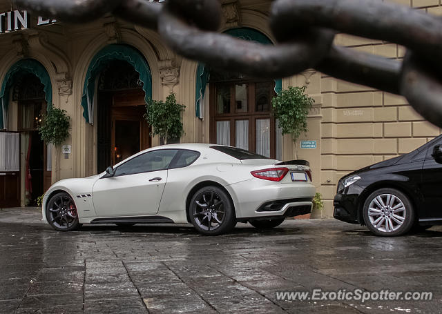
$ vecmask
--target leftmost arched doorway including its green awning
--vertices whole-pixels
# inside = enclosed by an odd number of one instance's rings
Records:
[[[11,105],[17,112],[12,116]],[[1,82],[0,106],[0,206],[37,205],[51,184],[52,170],[51,146],[37,130],[41,115],[52,106],[46,68],[35,59],[12,65]]]

